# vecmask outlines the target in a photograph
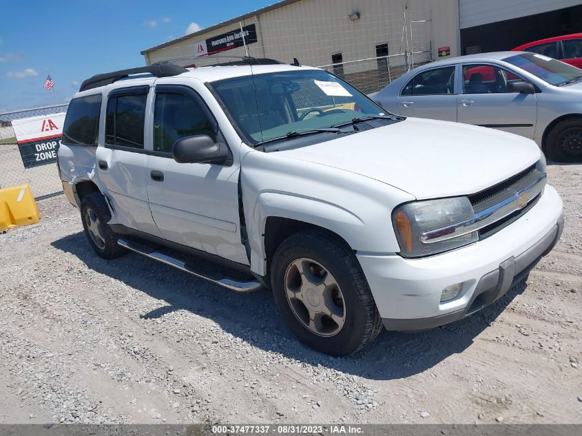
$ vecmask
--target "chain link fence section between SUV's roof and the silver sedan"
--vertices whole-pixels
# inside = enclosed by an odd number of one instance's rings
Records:
[[[429,63],[430,51],[391,54],[370,59],[321,65],[364,94],[378,92],[408,70]]]

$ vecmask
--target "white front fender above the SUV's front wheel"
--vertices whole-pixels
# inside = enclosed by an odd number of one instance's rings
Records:
[[[274,153],[249,153],[241,172],[251,270],[264,276],[267,218],[289,218],[328,229],[355,251],[395,253],[391,213],[410,194],[341,169]]]

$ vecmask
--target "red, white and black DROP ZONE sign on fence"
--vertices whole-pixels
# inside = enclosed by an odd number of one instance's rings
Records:
[[[65,112],[12,120],[25,168],[56,162],[64,121]]]

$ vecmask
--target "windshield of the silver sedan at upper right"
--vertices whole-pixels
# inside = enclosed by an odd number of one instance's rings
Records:
[[[537,53],[516,54],[503,59],[512,65],[550,83],[561,86],[582,79],[582,70]]]

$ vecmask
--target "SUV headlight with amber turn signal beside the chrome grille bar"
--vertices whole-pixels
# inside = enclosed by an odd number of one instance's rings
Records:
[[[400,254],[405,258],[418,258],[477,241],[477,231],[446,240],[423,240],[422,237],[423,233],[437,229],[443,229],[441,236],[453,233],[455,224],[469,220],[473,215],[473,208],[467,197],[417,201],[397,207],[392,214],[392,221]]]

